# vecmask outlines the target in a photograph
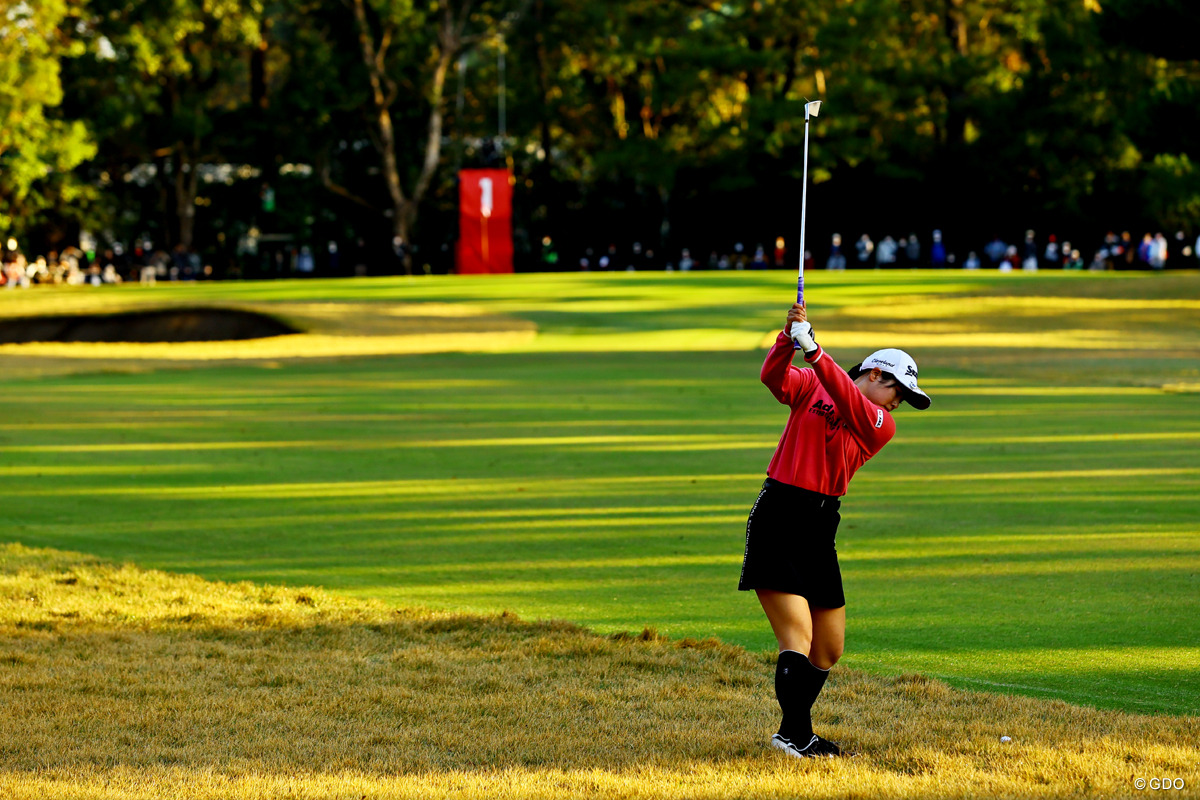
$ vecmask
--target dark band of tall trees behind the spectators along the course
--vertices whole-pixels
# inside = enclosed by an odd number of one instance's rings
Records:
[[[0,0],[0,231],[262,275],[444,271],[456,174],[518,269],[910,230],[1200,227],[1193,0]],[[336,243],[336,253],[330,251]],[[966,249],[966,246],[960,247]]]

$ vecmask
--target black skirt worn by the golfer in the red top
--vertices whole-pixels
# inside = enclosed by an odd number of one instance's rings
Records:
[[[768,477],[746,521],[738,589],[800,595],[815,608],[841,608],[841,570],[834,537],[841,501]]]

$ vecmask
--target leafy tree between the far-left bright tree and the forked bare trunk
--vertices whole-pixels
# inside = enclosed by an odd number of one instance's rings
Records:
[[[88,0],[80,10],[89,58],[72,76],[74,110],[102,133],[109,181],[154,167],[168,245],[192,247],[203,166],[227,162],[245,136],[264,22],[263,0]]]

